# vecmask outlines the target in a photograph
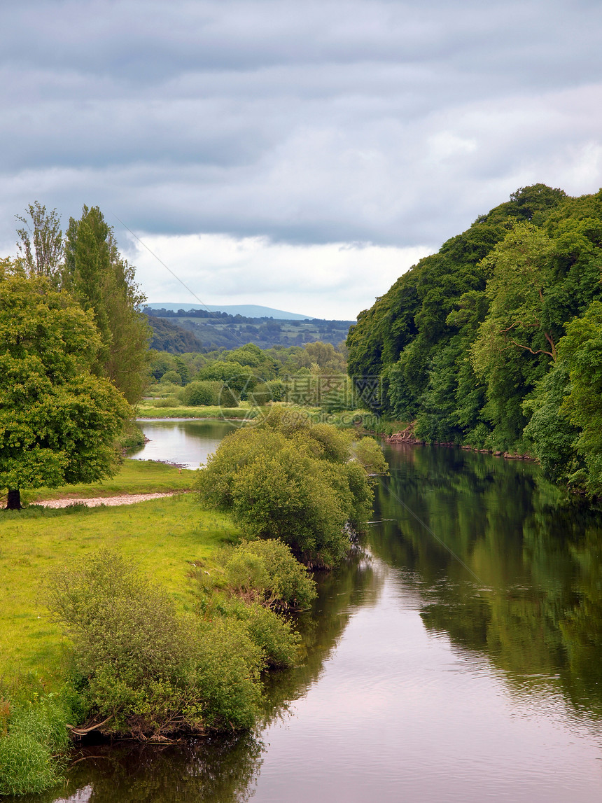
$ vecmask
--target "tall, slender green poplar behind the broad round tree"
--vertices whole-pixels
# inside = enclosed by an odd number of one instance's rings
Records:
[[[120,256],[99,207],[83,206],[82,217],[69,220],[63,287],[94,314],[101,338],[96,372],[111,379],[130,403],[144,388],[151,336],[140,312],[146,296],[134,279],[134,267]]]

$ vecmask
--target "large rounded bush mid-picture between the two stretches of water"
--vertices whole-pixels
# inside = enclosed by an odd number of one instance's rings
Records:
[[[256,426],[224,438],[199,475],[199,490],[205,502],[231,510],[250,536],[279,538],[302,560],[332,565],[349,547],[345,524],[362,526],[371,493],[367,472],[349,456],[347,434],[273,408]]]

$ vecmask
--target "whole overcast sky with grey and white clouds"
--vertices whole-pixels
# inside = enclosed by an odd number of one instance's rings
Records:
[[[5,0],[2,253],[97,204],[150,301],[194,299],[140,241],[206,304],[354,318],[518,187],[600,189],[601,46],[599,0]]]

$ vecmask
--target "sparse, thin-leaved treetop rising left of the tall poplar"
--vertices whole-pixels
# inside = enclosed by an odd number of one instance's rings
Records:
[[[19,260],[29,276],[46,276],[59,287],[63,270],[63,231],[55,209],[46,211],[39,201],[27,206],[27,217],[17,215],[23,224],[17,229]]]

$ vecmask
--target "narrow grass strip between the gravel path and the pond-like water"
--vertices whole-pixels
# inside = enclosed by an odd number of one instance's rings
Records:
[[[65,497],[90,499],[94,496],[187,491],[193,486],[195,475],[196,471],[182,469],[180,472],[175,466],[153,460],[124,460],[118,474],[111,479],[98,483],[63,485],[59,488],[35,488],[22,491],[21,499],[31,503]]]

